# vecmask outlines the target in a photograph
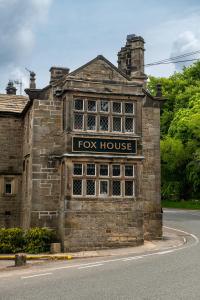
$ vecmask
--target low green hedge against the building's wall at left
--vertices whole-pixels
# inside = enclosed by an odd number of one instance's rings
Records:
[[[56,241],[53,230],[34,227],[25,231],[21,228],[0,228],[0,253],[42,253],[50,251]]]

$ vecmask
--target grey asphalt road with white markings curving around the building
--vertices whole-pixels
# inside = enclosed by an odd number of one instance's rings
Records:
[[[187,243],[162,253],[7,272],[0,275],[0,299],[200,300],[200,211],[167,210],[164,225],[184,231]]]

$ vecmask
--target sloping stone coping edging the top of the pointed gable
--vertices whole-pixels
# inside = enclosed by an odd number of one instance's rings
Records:
[[[114,75],[113,77],[117,77],[118,80],[130,80],[130,78],[122,72],[120,69],[118,69],[115,65],[113,65],[109,60],[107,60],[103,55],[98,55],[88,63],[84,64],[83,66],[79,67],[78,69],[72,71],[68,74],[68,76],[76,76],[81,73],[83,73],[85,70],[89,69],[89,67],[97,65],[99,62],[102,62],[102,66],[107,66],[110,70],[113,71]],[[118,75],[118,76],[117,76]]]

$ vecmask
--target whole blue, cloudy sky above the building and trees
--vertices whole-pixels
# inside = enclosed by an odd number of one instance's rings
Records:
[[[99,54],[117,65],[127,34],[145,39],[145,63],[200,50],[199,24],[199,0],[0,0],[0,93],[9,80],[27,88],[26,69],[42,88],[51,66],[72,71]],[[145,72],[168,77],[182,67]]]

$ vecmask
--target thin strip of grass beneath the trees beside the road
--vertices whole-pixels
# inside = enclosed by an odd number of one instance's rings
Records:
[[[200,200],[162,200],[162,207],[200,209]]]

